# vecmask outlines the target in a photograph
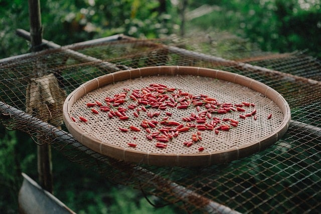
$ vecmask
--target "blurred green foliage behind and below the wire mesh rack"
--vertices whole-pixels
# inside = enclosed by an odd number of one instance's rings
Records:
[[[165,7],[162,2],[166,3]],[[120,33],[136,38],[179,34],[182,2],[41,0],[43,38],[68,45]],[[229,31],[257,43],[264,51],[306,50],[311,56],[321,57],[320,1],[190,0],[187,3],[187,12],[202,5],[217,9],[187,22],[185,32],[189,34]],[[30,44],[16,36],[15,30],[19,28],[29,30],[28,1],[0,0],[0,59],[29,52]],[[178,212],[173,207],[153,208],[140,191],[114,186],[97,173],[69,162],[55,150],[53,159],[55,194],[79,213]],[[26,134],[5,130],[0,124],[0,213],[17,212],[21,172],[37,180],[35,143]]]

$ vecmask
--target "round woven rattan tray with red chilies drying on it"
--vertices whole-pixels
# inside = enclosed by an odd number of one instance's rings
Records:
[[[162,91],[162,87],[159,87],[158,91],[153,87],[153,91],[150,88],[152,84],[161,85],[166,91]],[[139,98],[135,100],[130,96],[133,93],[136,93],[136,96],[139,94]],[[124,102],[116,104],[112,98],[121,94],[126,94]],[[155,98],[149,96],[150,94],[157,95],[157,104],[162,104],[162,109],[155,105],[155,100],[150,99]],[[167,99],[161,100],[163,97]],[[208,98],[205,102],[206,97]],[[147,105],[143,101],[146,98],[152,100],[149,100]],[[216,110],[207,104],[213,105],[209,98],[216,99]],[[95,101],[109,109],[101,111],[99,105],[87,106],[87,103]],[[176,102],[174,107],[169,104],[171,101]],[[204,104],[197,104],[197,101]],[[250,106],[247,106],[249,103]],[[242,104],[240,108],[245,112],[236,110],[237,105]],[[188,107],[180,109],[180,105]],[[218,113],[218,109],[223,106],[233,107],[226,113]],[[109,117],[112,112],[118,111],[118,107],[126,109],[124,114],[128,119],[120,120],[117,115]],[[96,109],[98,114],[92,112],[92,108]],[[256,113],[253,112],[254,109]],[[248,156],[275,143],[286,132],[290,121],[290,109],[284,98],[258,81],[225,71],[178,66],[146,67],[98,77],[70,93],[63,110],[64,122],[69,132],[90,149],[119,160],[167,166],[202,166]],[[138,117],[134,112],[139,114]],[[246,114],[245,119],[240,118],[240,115]],[[202,125],[199,121],[189,121],[191,115],[206,117],[206,124],[212,126],[206,126],[206,130],[198,130],[197,127]],[[82,121],[80,116],[88,121]],[[214,118],[216,126],[211,122]],[[237,127],[231,125],[234,120],[238,122]],[[149,126],[150,123],[146,121],[152,121],[155,127]],[[178,132],[177,126],[170,126],[168,121],[176,121],[191,128],[184,132],[180,129]],[[147,124],[151,133],[141,126],[142,123]],[[229,130],[222,130],[224,124],[229,125]],[[129,126],[138,127],[140,131],[133,131]],[[119,127],[129,131],[120,131]],[[161,128],[170,131],[159,131],[164,130]],[[218,129],[217,133],[215,129]],[[169,141],[162,142],[167,145],[165,148],[155,146],[158,143],[156,132],[158,135],[170,133]],[[153,138],[147,139],[146,135]],[[191,141],[193,144],[187,146],[187,142]],[[136,146],[129,146],[128,143]],[[202,148],[199,149],[200,147]]]

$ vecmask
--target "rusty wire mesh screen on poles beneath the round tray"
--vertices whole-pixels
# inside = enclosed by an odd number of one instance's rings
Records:
[[[68,133],[62,123],[62,103],[82,83],[119,70],[164,65],[220,69],[272,87],[291,108],[287,133],[259,153],[197,168],[118,161],[91,151]],[[264,53],[226,34],[159,41],[122,37],[5,59],[0,70],[6,127],[36,135],[115,183],[139,188],[193,213],[321,211],[321,64],[317,59],[299,52]]]

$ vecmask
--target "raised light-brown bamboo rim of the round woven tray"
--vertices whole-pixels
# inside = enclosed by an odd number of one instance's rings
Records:
[[[164,153],[156,152],[146,153],[142,151],[132,150],[130,148],[123,148],[116,145],[103,143],[102,141],[94,138],[93,136],[89,136],[87,133],[81,133],[82,130],[76,125],[74,121],[72,121],[69,110],[72,107],[72,105],[85,94],[100,87],[103,87],[107,84],[112,84],[129,79],[135,79],[139,77],[156,75],[203,76],[220,79],[247,87],[271,99],[281,109],[284,118],[279,127],[276,128],[276,130],[273,133],[270,133],[257,141],[249,142],[238,147],[225,149],[224,151],[205,151],[200,154],[167,153],[166,155]],[[274,144],[277,140],[279,140],[287,131],[290,123],[290,118],[290,108],[286,100],[281,96],[281,94],[279,94],[271,87],[239,74],[216,69],[190,66],[143,67],[105,74],[80,85],[67,96],[63,105],[63,120],[65,122],[65,125],[68,131],[81,144],[102,155],[106,155],[118,160],[162,166],[204,166],[230,162],[232,160],[249,156],[251,154],[264,150],[265,148],[269,147],[270,145]]]

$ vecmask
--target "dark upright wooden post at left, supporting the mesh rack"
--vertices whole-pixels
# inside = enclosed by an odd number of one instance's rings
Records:
[[[31,50],[32,52],[41,51],[42,47],[42,25],[40,13],[40,0],[28,0],[29,3],[29,22],[30,22],[30,36],[31,36]],[[42,76],[40,69],[37,71],[38,76]],[[42,188],[48,192],[53,192],[53,177],[52,177],[52,160],[51,160],[51,146],[41,137],[37,138],[39,145],[37,145],[38,156],[38,177]]]

